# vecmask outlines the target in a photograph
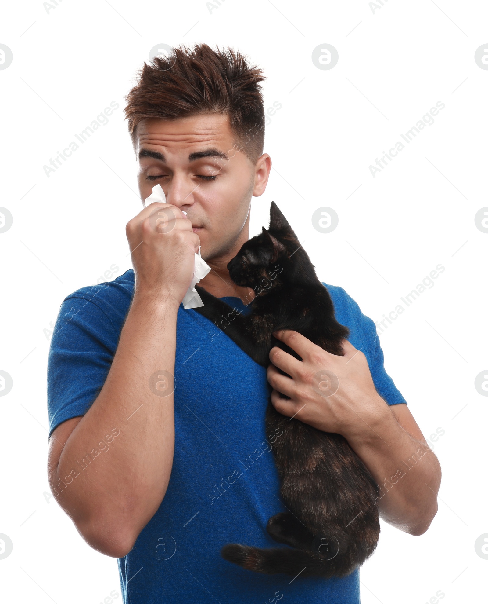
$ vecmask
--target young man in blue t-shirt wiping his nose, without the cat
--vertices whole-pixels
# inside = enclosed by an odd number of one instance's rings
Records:
[[[358,570],[291,580],[220,557],[231,542],[276,546],[265,527],[286,510],[267,380],[280,413],[346,437],[379,484],[385,521],[421,535],[437,511],[437,458],[385,373],[373,321],[343,289],[327,285],[350,329],[346,355],[283,332],[303,361],[273,349],[267,371],[181,304],[200,246],[212,269],[200,285],[242,312],[252,299],[226,267],[270,174],[262,79],[240,54],[206,45],[144,66],[125,112],[141,198],[160,184],[168,205],[128,222],[134,270],[69,295],[55,326],[51,489],[87,543],[119,559],[124,602],[359,602]],[[340,382],[330,397],[312,388],[323,369]]]

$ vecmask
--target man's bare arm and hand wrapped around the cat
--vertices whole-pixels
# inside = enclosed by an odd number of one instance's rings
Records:
[[[382,518],[411,535],[422,535],[437,513],[440,465],[407,405],[388,406],[376,392],[366,356],[343,341],[345,355],[331,355],[297,332],[280,338],[303,359],[271,349],[271,402],[285,416],[342,434],[371,472],[380,490]],[[279,367],[288,375],[279,373]],[[317,373],[332,371],[339,382],[331,396],[318,394]],[[279,392],[290,397],[282,399]]]

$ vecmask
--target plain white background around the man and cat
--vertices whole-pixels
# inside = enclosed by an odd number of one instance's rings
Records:
[[[488,71],[474,53],[488,47],[486,4],[390,0],[374,12],[366,0],[51,5],[10,2],[0,24],[0,43],[13,52],[0,71],[0,205],[13,214],[0,234],[0,369],[13,378],[0,398],[0,533],[13,542],[0,559],[2,601],[96,604],[120,593],[115,559],[90,549],[46,494],[49,326],[66,295],[113,264],[110,278],[131,268],[125,224],[142,205],[122,110],[136,71],[155,45],[206,42],[247,54],[265,70],[265,107],[282,103],[266,130],[274,169],[253,200],[252,234],[276,201],[321,280],[346,289],[375,321],[445,266],[380,338],[425,436],[445,431],[434,445],[439,512],[420,537],[382,524],[361,570],[361,601],[422,604],[440,590],[446,603],[480,602],[488,561],[474,543],[488,533],[488,399],[474,380],[488,367],[488,234],[474,216],[488,205]],[[338,50],[331,70],[312,63],[322,43]],[[48,178],[43,165],[114,100],[109,123]],[[435,123],[373,178],[369,165],[437,101],[445,108]],[[339,216],[330,234],[312,227],[323,206]]]

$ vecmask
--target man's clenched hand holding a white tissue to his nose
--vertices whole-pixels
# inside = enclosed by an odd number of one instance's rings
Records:
[[[134,297],[176,303],[191,283],[200,239],[176,205],[153,202],[125,227],[132,250]]]

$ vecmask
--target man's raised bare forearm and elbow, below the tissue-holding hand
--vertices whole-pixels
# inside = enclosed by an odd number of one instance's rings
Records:
[[[170,480],[173,393],[170,387],[159,396],[165,391],[154,388],[166,379],[157,378],[159,370],[174,373],[177,310],[174,301],[136,292],[106,382],[51,472],[51,489],[80,533],[116,557],[132,548]],[[111,434],[116,437],[99,452]]]

